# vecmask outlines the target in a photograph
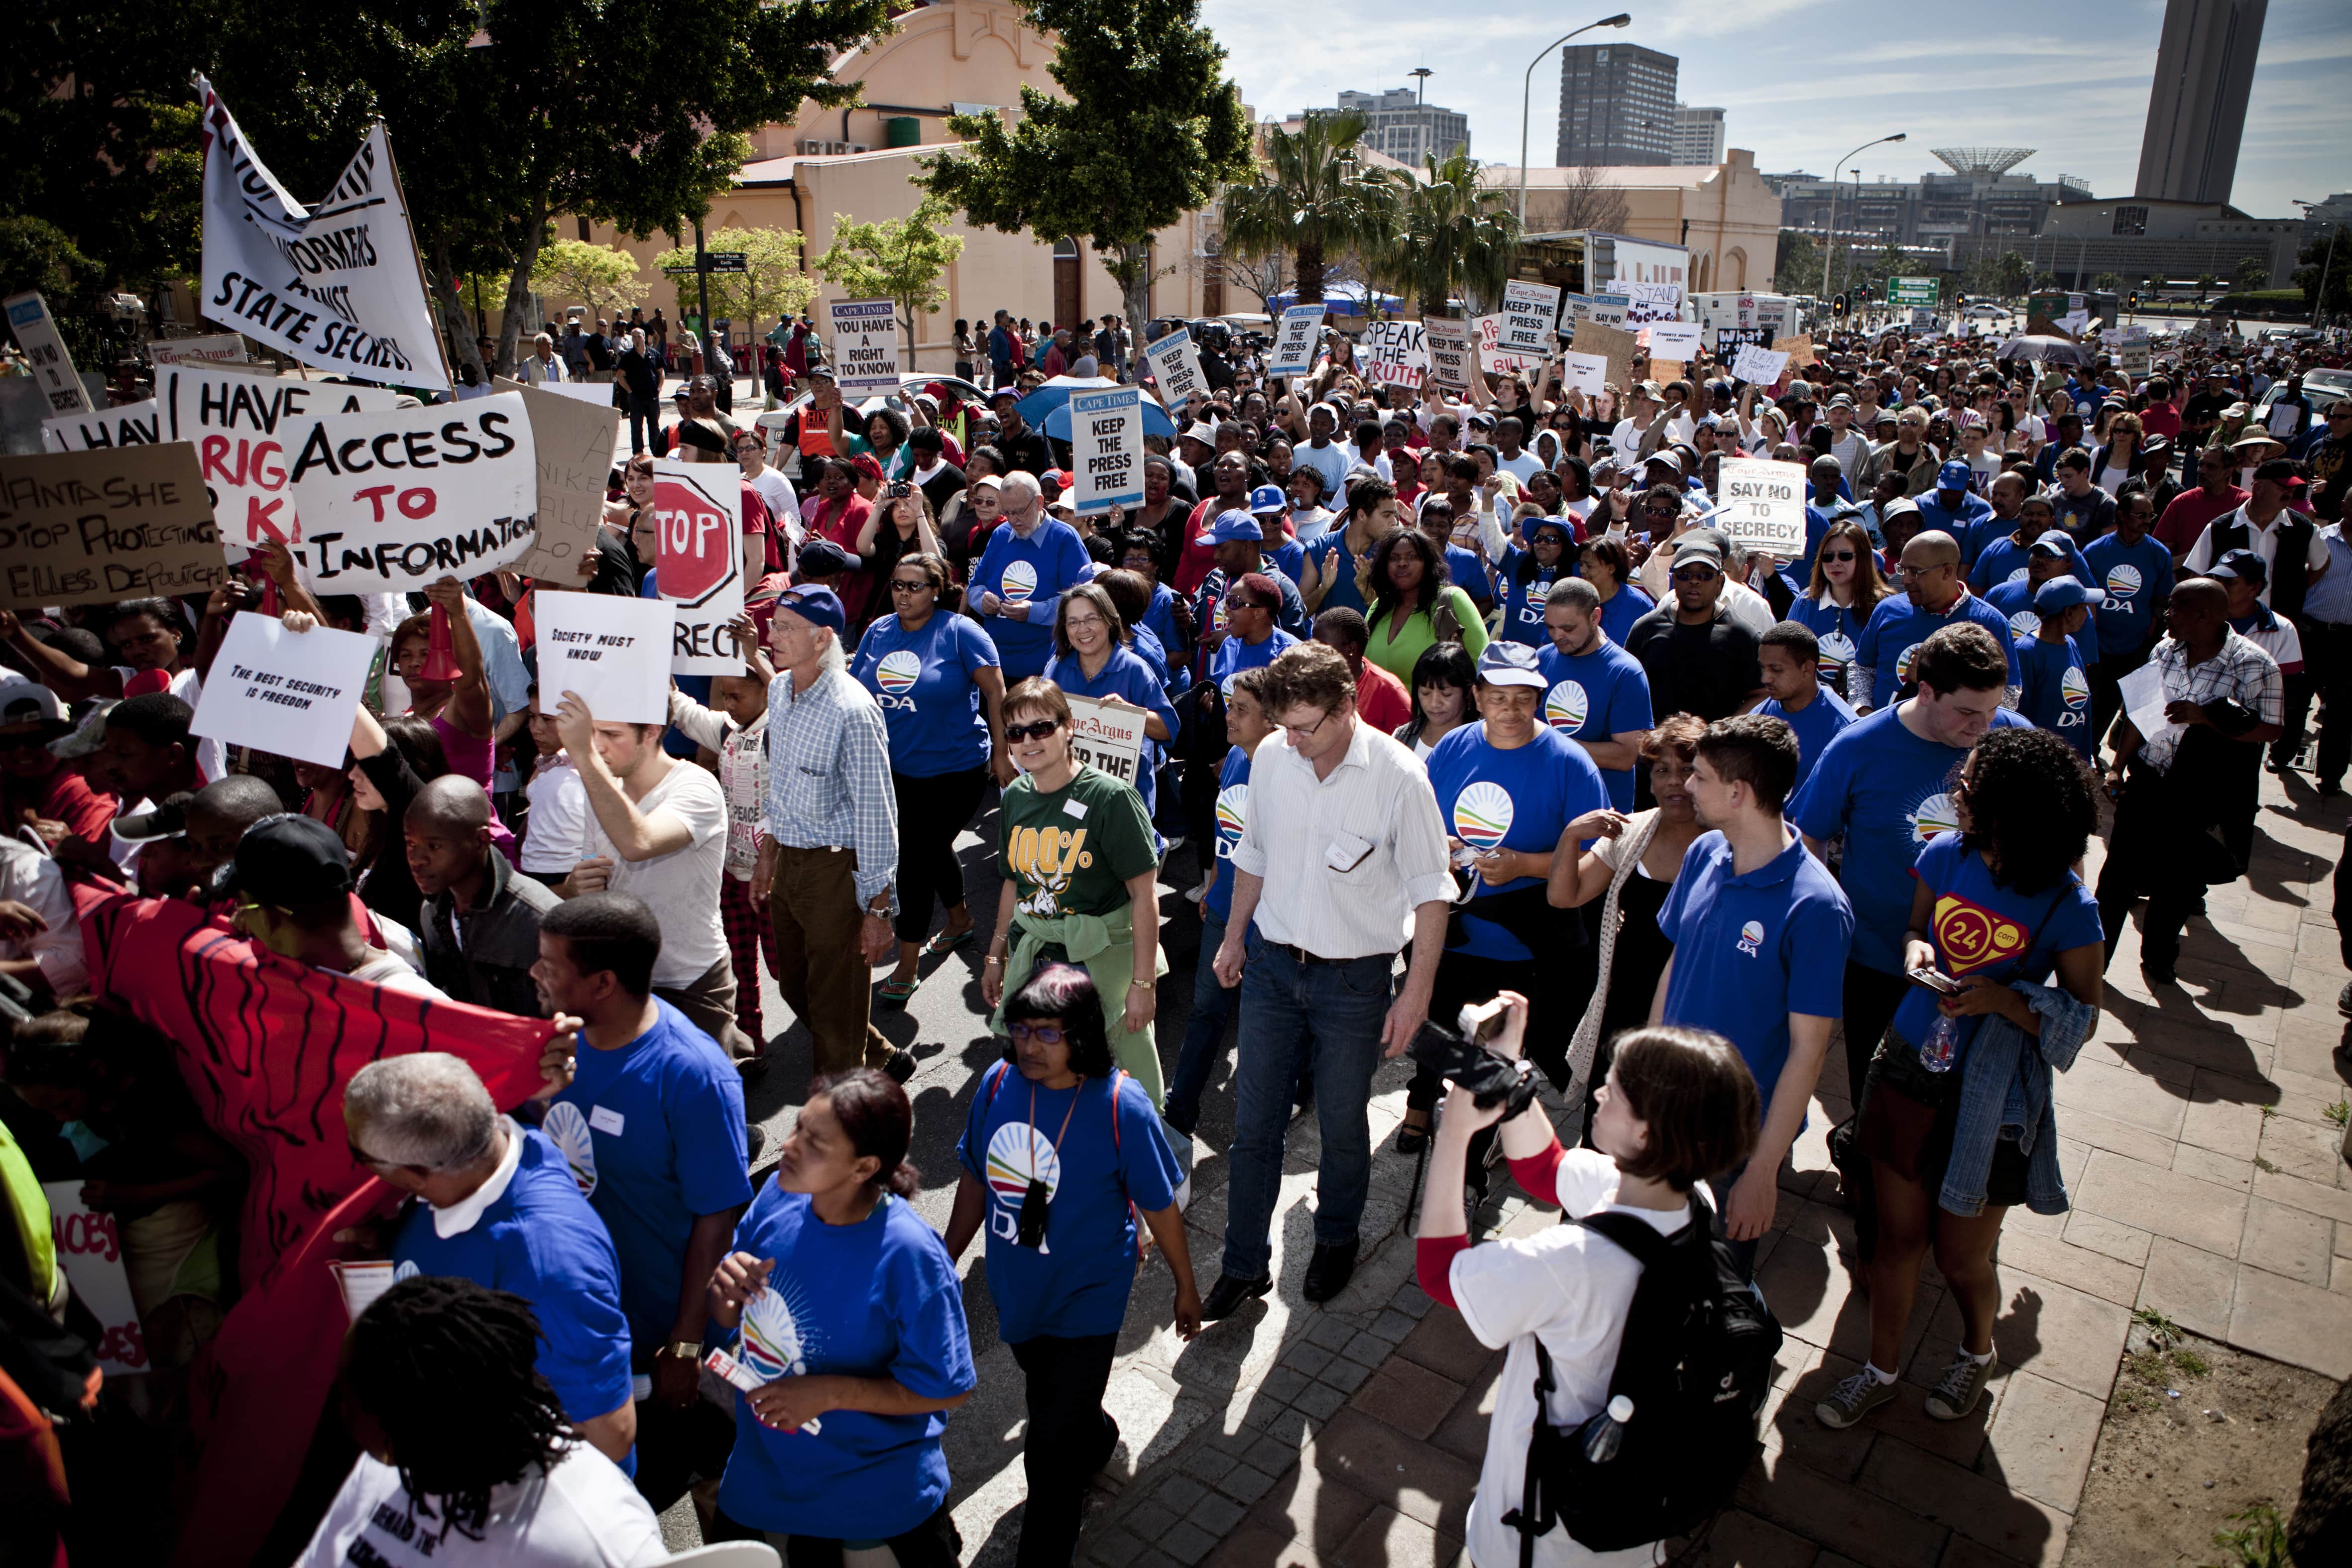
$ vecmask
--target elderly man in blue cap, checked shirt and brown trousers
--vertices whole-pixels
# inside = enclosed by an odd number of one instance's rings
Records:
[[[882,1039],[868,1009],[873,966],[898,950],[898,804],[889,729],[842,656],[842,599],[788,588],[767,644],[767,804],[753,898],[776,926],[776,987],[816,1041],[816,1072],[880,1067],[901,1084],[915,1058]]]

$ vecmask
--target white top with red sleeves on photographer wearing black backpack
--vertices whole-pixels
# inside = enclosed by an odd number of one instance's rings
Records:
[[[1559,1208],[1571,1215],[1639,1215],[1661,1234],[1682,1229],[1682,1213],[1632,1208],[1616,1201],[1618,1168],[1595,1150],[1571,1150],[1559,1161]],[[1698,1190],[1705,1213],[1705,1187]],[[1503,1378],[1494,1385],[1494,1418],[1486,1422],[1486,1460],[1479,1465],[1477,1497],[1470,1500],[1470,1561],[1477,1568],[1515,1568],[1519,1533],[1503,1514],[1519,1507],[1526,1490],[1526,1443],[1536,1432],[1536,1345],[1552,1356],[1559,1387],[1545,1401],[1555,1427],[1581,1427],[1609,1403],[1625,1312],[1642,1281],[1642,1265],[1616,1241],[1581,1225],[1555,1225],[1522,1239],[1486,1241],[1454,1258],[1446,1274],[1463,1324],[1489,1349],[1510,1347]],[[1618,1568],[1653,1563],[1656,1547],[1590,1552],[1555,1526],[1536,1537],[1538,1568]]]

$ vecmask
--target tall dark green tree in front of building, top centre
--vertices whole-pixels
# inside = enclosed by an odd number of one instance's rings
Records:
[[[807,9],[807,7],[802,7]],[[1021,89],[1021,122],[953,115],[969,146],[917,181],[978,228],[1084,240],[1150,320],[1152,235],[1249,169],[1249,115],[1200,0],[1023,0],[1058,40],[1047,73],[1068,94]]]

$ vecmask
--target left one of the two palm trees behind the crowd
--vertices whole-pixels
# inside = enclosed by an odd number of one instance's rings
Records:
[[[1287,254],[1298,303],[1322,301],[1324,259],[1367,244],[1388,219],[1388,193],[1355,155],[1367,118],[1308,113],[1298,132],[1265,127],[1265,158],[1225,190],[1225,254]]]

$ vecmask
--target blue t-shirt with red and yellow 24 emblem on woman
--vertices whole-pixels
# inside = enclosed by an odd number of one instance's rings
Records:
[[[1912,865],[1912,882],[1926,884],[1936,896],[1929,940],[1936,943],[1936,964],[1947,976],[2046,985],[2060,952],[2105,943],[2098,900],[2074,872],[2067,872],[2056,889],[2018,893],[1992,879],[1985,856],[1964,849],[1959,832],[1938,832],[1929,839],[1919,863]],[[1959,1046],[1966,1051],[1980,1020],[1955,1023]],[[1936,997],[1912,985],[1896,1009],[1896,1032],[1917,1046],[1933,1025]]]

